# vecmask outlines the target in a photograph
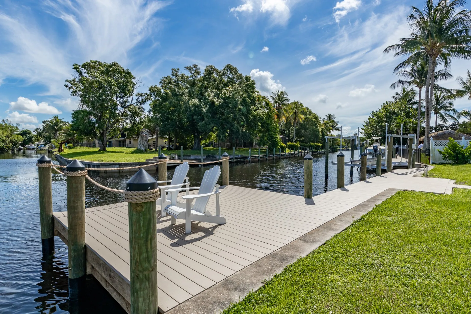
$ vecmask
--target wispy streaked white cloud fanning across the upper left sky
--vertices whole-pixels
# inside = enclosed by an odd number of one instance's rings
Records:
[[[42,14],[62,20],[61,32],[51,33],[31,10],[0,13],[0,32],[8,50],[0,52],[0,81],[7,77],[41,84],[45,94],[66,95],[64,81],[80,60],[117,61],[124,66],[128,52],[158,28],[154,17],[167,1],[49,0]],[[5,11],[3,11],[5,12]],[[20,13],[17,13],[20,12]],[[46,27],[45,27],[46,25]],[[64,37],[62,33],[67,34]],[[79,62],[80,63],[80,62]]]

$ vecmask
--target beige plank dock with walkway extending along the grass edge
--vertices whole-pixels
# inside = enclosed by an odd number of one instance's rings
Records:
[[[184,221],[171,226],[170,217],[159,220],[157,270],[160,311],[167,312],[191,300],[244,267],[389,188],[445,193],[453,183],[447,179],[418,177],[419,171],[397,169],[309,200],[227,185],[220,189],[220,210],[221,216],[227,219],[225,225],[193,223],[192,233],[185,234]],[[213,213],[214,201],[211,198],[208,205]],[[54,226],[56,235],[67,243],[66,211],[54,213]],[[122,202],[86,209],[85,230],[87,273],[92,274],[129,312],[128,204]]]

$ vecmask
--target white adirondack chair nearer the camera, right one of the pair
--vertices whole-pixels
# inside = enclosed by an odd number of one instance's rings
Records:
[[[219,166],[214,166],[213,168],[206,170],[204,172],[201,186],[189,188],[189,190],[199,190],[198,194],[184,195],[182,197],[186,201],[185,208],[180,207],[176,202],[176,196],[180,191],[185,190],[184,188],[169,189],[165,191],[172,194],[171,205],[167,205],[165,209],[163,209],[164,212],[171,215],[172,225],[177,222],[176,219],[185,219],[185,233],[191,233],[192,221],[203,221],[219,225],[226,223],[226,218],[221,217],[219,213],[219,193],[221,192],[219,191],[219,185],[217,185],[216,182],[218,182],[220,175],[221,170],[219,169]],[[211,213],[206,210],[209,198],[213,194],[216,195],[216,216],[211,215]],[[192,206],[192,200],[194,199],[196,200],[195,205]]]

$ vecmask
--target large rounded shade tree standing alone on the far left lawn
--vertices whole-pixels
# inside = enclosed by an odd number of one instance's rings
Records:
[[[148,96],[137,93],[139,81],[117,62],[91,60],[73,64],[73,70],[73,78],[65,81],[70,95],[80,98],[72,113],[72,130],[96,138],[99,150],[106,151],[108,140],[122,132],[128,119],[143,113]]]

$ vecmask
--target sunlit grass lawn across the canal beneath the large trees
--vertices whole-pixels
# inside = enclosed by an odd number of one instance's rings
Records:
[[[158,152],[147,151],[145,153],[132,153],[135,148],[126,148],[126,147],[108,147],[106,152],[98,152],[98,148],[89,148],[89,147],[77,147],[68,149],[65,148],[64,152],[60,155],[64,158],[69,159],[79,159],[84,161],[104,161],[104,162],[136,162],[136,161],[146,161],[148,158],[152,158],[158,155]],[[205,147],[203,148],[204,155],[213,155],[217,156],[219,148]],[[232,149],[221,149],[221,154],[227,152],[229,155],[232,155]],[[288,151],[289,152],[289,151]],[[163,150],[162,153],[166,155],[178,154],[180,155],[180,150],[178,151],[167,151]],[[252,149],[252,156],[258,155],[258,149]],[[261,149],[260,154],[266,154],[266,149]],[[276,151],[278,153],[278,151]],[[184,150],[183,155],[199,155],[200,150]],[[269,155],[273,154],[273,151],[268,152]],[[237,148],[235,149],[235,155],[249,156],[249,148]]]

